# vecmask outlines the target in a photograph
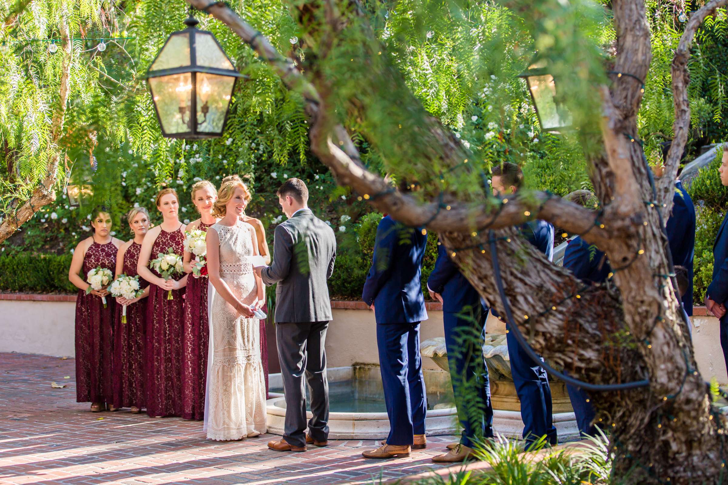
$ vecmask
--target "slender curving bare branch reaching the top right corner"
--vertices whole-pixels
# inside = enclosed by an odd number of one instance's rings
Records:
[[[673,204],[673,180],[677,176],[680,158],[685,149],[690,128],[690,102],[687,97],[690,73],[687,70],[687,63],[690,59],[692,40],[705,17],[715,14],[716,9],[726,4],[728,4],[728,0],[711,0],[697,12],[690,15],[690,19],[685,25],[685,31],[678,42],[675,57],[673,57],[673,64],[670,69],[673,79],[673,103],[675,105],[673,143],[670,145],[667,161],[665,161],[665,172],[660,179],[655,181],[657,201],[660,204],[667,204],[667,207],[662,209],[665,220],[667,220]]]

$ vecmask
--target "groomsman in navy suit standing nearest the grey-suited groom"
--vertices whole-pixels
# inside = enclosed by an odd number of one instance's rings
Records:
[[[404,186],[403,186],[404,188]],[[376,228],[374,256],[362,300],[374,310],[379,368],[389,436],[367,458],[408,457],[423,449],[427,400],[419,353],[419,324],[427,320],[421,269],[427,231],[384,217]]]

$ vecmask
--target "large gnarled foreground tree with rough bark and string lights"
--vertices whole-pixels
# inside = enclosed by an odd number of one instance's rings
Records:
[[[589,382],[649,379],[649,388],[602,393],[593,399],[602,423],[611,431],[617,476],[634,484],[721,481],[726,422],[723,417],[714,419],[711,414],[705,382],[697,373],[674,289],[666,277],[669,271],[666,241],[658,211],[662,209],[661,200],[668,204],[674,170],[668,170],[667,182],[658,183],[660,199],[655,201],[649,184],[649,168],[635,141],[638,139],[636,116],[642,97],[639,83],[630,76],[621,76],[614,79],[612,87],[601,89],[604,155],[590,160],[592,181],[604,207],[596,226],[595,213],[539,193],[529,201],[516,197],[502,210],[493,201],[474,204],[459,201],[457,194],[446,193],[446,204],[451,209],[443,210],[439,204],[417,204],[408,196],[387,191],[384,180],[363,167],[346,129],[333,121],[335,118],[327,109],[331,85],[317,72],[315,61],[306,66],[304,77],[224,4],[209,7],[207,0],[188,1],[197,8],[207,9],[242,39],[252,42],[252,47],[271,63],[291,89],[304,93],[308,100],[306,109],[312,118],[312,151],[331,169],[339,183],[349,185],[365,199],[371,194],[384,193],[371,200],[373,206],[386,210],[403,223],[427,222],[428,228],[440,231],[449,248],[470,247],[454,251],[454,260],[480,294],[501,312],[503,307],[492,276],[490,254],[479,246],[487,243],[486,235],[477,230],[487,225],[504,228],[497,232],[496,244],[505,292],[516,324],[524,334],[531,335],[534,350]],[[683,149],[686,138],[681,130],[687,129],[685,119],[689,119],[687,98],[680,96],[687,84],[684,68],[692,34],[705,15],[723,3],[711,1],[692,16],[676,53],[673,63],[673,85],[676,86],[673,151],[676,153]],[[349,8],[352,6],[353,9]],[[347,17],[356,15],[352,14],[356,12],[353,1],[323,1],[307,4],[306,8],[325,9],[325,15],[320,15],[325,21],[321,23],[317,23],[319,17],[315,15],[301,17],[302,22],[316,23],[303,25],[302,30],[316,36],[317,41],[336,43],[336,33],[341,29],[358,28],[349,25]],[[644,2],[614,0],[612,9],[617,29],[614,71],[645,79],[651,53]],[[317,55],[326,52],[331,51],[323,48]],[[422,106],[408,105],[408,109],[422,110]],[[454,146],[445,132],[436,122],[430,124],[430,143],[438,148],[433,152],[440,153],[440,163],[448,166],[467,156],[467,152],[459,145]],[[670,165],[673,164],[674,160],[670,159]],[[608,254],[615,268],[612,284],[585,290],[568,272],[524,244],[513,229],[506,227],[521,223],[528,217],[524,217],[526,211],[531,217],[548,220],[574,233],[584,233],[590,228],[583,237]],[[561,217],[564,211],[569,212],[568,217]],[[475,236],[471,234],[474,230]],[[532,260],[527,273],[521,270],[523,257]],[[577,293],[578,298],[563,300]],[[539,315],[548,308],[553,310]]]

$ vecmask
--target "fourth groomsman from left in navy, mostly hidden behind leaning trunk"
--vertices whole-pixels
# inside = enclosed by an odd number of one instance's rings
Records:
[[[574,191],[566,196],[566,199],[590,207],[594,194],[590,191]],[[579,236],[569,239],[566,252],[563,254],[563,267],[571,270],[574,276],[587,284],[604,283],[606,278],[609,278],[609,273],[612,272],[609,261],[606,260],[606,254]],[[567,384],[566,391],[569,393],[571,407],[574,408],[574,414],[577,417],[579,433],[582,437],[596,436],[596,428],[593,425],[596,412],[590,397],[585,390],[573,385]]]

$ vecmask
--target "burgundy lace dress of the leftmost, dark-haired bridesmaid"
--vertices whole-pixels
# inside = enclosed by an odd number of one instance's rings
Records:
[[[113,241],[98,244],[94,241],[84,256],[84,281],[90,270],[100,266],[114,273],[116,252]],[[113,320],[116,302],[79,289],[76,297],[76,402],[111,404],[111,372],[114,358]]]

